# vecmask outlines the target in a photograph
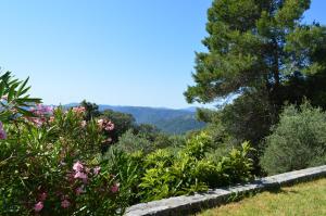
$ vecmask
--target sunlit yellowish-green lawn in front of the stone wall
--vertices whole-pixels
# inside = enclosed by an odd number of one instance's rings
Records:
[[[326,215],[326,178],[286,187],[275,192],[259,193],[236,203],[204,211],[197,216],[215,215]]]

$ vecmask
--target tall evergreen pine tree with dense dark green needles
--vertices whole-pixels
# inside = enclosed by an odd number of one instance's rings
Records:
[[[306,89],[316,76],[325,80],[326,68],[326,28],[301,22],[310,3],[214,0],[208,11],[209,36],[202,41],[208,52],[197,53],[196,85],[185,92],[187,101],[206,103],[235,92],[259,92],[276,116],[284,101],[310,96]],[[308,80],[309,87],[302,85]],[[319,97],[324,104],[325,96],[324,91]]]

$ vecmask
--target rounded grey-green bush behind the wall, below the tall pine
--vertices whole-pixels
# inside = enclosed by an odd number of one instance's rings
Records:
[[[271,175],[326,163],[326,113],[308,103],[285,107],[266,138],[262,167]]]

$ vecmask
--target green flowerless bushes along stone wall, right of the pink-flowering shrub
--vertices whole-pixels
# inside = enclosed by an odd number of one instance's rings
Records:
[[[252,151],[248,142],[233,149],[218,161],[211,160],[212,138],[205,132],[195,135],[178,149],[158,149],[145,154],[126,153],[113,148],[105,154],[112,173],[118,173],[122,190],[127,186],[129,203],[192,194],[217,186],[248,181],[253,178]],[[175,152],[177,150],[177,152]]]

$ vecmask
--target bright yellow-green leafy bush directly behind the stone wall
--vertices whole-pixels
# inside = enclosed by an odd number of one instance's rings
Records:
[[[204,132],[189,139],[177,154],[158,150],[145,158],[141,178],[142,201],[205,191],[209,187],[227,186],[252,178],[252,162],[248,143],[214,162],[205,157],[211,138]],[[237,170],[239,169],[239,170]]]

